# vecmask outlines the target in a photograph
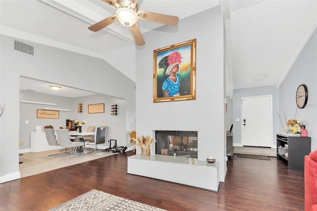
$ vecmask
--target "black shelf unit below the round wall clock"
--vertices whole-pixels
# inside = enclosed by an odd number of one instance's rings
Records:
[[[288,156],[280,155],[278,147],[288,146]],[[304,171],[305,156],[311,152],[311,137],[276,134],[276,159],[282,159],[290,170]]]

